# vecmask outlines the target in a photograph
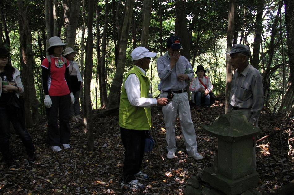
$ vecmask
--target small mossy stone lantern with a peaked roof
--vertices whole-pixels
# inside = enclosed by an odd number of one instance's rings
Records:
[[[214,167],[203,170],[203,179],[228,195],[235,195],[257,186],[258,174],[252,167],[252,137],[259,128],[248,123],[241,112],[222,114],[203,130],[218,138],[218,156]]]

